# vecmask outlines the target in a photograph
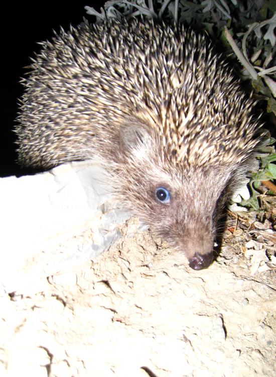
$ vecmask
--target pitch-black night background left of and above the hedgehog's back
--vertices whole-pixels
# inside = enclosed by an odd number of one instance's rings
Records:
[[[1,127],[0,127],[0,176],[22,174],[16,164],[16,135],[12,132],[18,111],[17,99],[23,93],[20,77],[27,72],[23,67],[30,64],[34,51],[39,52],[36,42],[51,39],[53,29],[60,26],[67,31],[83,21],[90,22],[94,17],[86,14],[84,7],[95,8],[98,12],[104,0],[86,0],[77,2],[20,2],[15,5],[1,6],[2,13],[2,80],[1,80]]]

